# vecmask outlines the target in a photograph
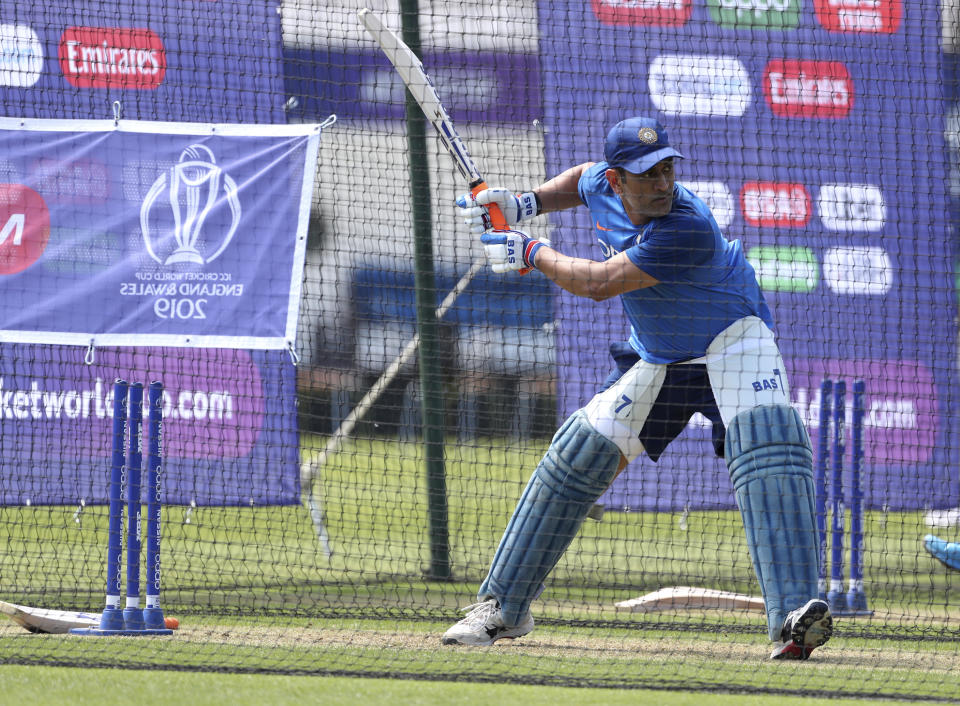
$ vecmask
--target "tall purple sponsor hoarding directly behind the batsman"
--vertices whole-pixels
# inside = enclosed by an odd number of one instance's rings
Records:
[[[868,506],[955,506],[955,253],[939,9],[907,13],[901,0],[539,8],[548,173],[602,158],[619,120],[657,117],[688,157],[678,181],[707,201],[757,270],[793,402],[814,438],[820,380],[842,377],[849,390],[863,378]],[[601,257],[586,212],[556,222],[564,252]],[[628,328],[615,304],[561,293],[557,310],[569,413],[612,367],[598,341],[625,340]],[[628,469],[604,502],[732,507],[726,470],[697,421],[658,464]]]

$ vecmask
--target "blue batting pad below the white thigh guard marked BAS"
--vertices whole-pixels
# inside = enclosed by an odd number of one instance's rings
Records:
[[[787,613],[817,596],[813,450],[800,415],[787,405],[741,412],[727,427],[726,461],[779,641]]]

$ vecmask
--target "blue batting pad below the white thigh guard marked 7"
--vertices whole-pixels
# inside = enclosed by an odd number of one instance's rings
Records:
[[[570,545],[594,501],[617,474],[620,450],[582,411],[554,435],[500,540],[480,600],[496,598],[507,625],[522,622],[543,580]]]

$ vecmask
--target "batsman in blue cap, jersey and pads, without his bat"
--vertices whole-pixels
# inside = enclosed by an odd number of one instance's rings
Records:
[[[772,659],[803,660],[832,634],[817,598],[813,453],[790,405],[783,360],[753,268],[706,204],[675,181],[666,130],[635,117],[610,130],[604,161],[572,167],[533,191],[457,199],[495,272],[537,268],[557,286],[619,296],[630,338],[615,368],[553,437],[507,525],[478,603],[445,645],[490,645],[533,629],[532,601],[594,502],[627,463],[657,461],[690,417],[713,424],[730,471],[766,604]],[[522,230],[490,231],[495,204],[511,228],[585,205],[603,260],[574,258]]]

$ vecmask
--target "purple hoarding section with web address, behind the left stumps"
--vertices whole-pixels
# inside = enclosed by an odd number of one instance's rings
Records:
[[[299,502],[285,352],[0,347],[0,504],[107,497],[113,381],[164,383],[164,502]],[[265,472],[269,469],[269,472]]]

